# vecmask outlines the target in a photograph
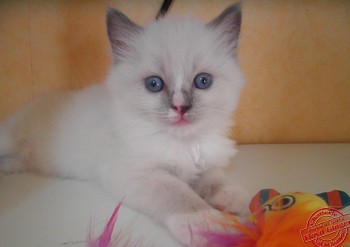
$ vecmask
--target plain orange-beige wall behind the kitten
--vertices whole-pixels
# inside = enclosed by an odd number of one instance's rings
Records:
[[[140,24],[162,0],[0,1],[0,119],[49,90],[105,76],[104,9]],[[210,20],[234,1],[174,0],[171,14]],[[243,1],[239,59],[247,85],[239,143],[350,142],[350,1]]]

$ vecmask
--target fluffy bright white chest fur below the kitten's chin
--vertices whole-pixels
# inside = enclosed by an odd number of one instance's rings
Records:
[[[235,153],[233,142],[222,138],[197,140],[153,140],[143,154],[150,165],[169,170],[190,181],[214,166],[225,166]]]

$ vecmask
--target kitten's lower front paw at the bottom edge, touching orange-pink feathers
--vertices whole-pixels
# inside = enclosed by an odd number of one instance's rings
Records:
[[[209,209],[172,215],[165,221],[165,225],[180,243],[185,246],[200,247],[207,243],[204,233],[228,232],[228,229],[216,223],[221,220],[224,220],[224,216],[220,211]]]

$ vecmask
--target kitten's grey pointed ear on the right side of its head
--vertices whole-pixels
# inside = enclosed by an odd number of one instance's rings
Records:
[[[218,17],[209,22],[207,26],[218,29],[225,38],[227,45],[236,52],[241,29],[241,19],[241,4],[236,3],[225,9]]]

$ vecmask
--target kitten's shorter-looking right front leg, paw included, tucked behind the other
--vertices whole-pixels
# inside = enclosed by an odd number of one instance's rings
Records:
[[[247,191],[228,180],[222,168],[203,172],[193,188],[214,208],[238,215],[248,214],[250,197]]]

